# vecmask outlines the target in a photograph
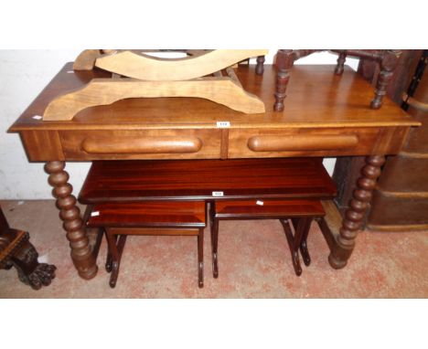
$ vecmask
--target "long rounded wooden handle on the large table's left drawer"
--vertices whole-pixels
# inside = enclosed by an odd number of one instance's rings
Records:
[[[81,148],[86,153],[198,153],[198,137],[114,137],[86,138]]]

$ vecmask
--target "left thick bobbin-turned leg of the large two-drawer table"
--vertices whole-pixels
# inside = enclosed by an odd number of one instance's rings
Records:
[[[45,165],[49,174],[48,183],[53,186],[53,195],[57,198],[59,217],[64,222],[63,227],[70,241],[71,259],[80,278],[90,280],[97,274],[98,267],[80,217],[80,209],[76,206],[76,197],[71,195],[73,187],[68,183],[69,174],[64,168],[65,163],[62,161],[51,161]]]

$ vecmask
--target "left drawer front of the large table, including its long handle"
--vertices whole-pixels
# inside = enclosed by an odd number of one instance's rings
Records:
[[[219,130],[62,131],[66,160],[219,158]]]

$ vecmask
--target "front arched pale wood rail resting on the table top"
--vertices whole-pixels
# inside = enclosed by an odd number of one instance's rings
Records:
[[[189,81],[141,81],[137,79],[92,79],[85,87],[52,100],[44,121],[67,121],[86,108],[109,105],[128,98],[193,97],[215,101],[245,113],[262,113],[262,100],[241,89],[229,78]]]

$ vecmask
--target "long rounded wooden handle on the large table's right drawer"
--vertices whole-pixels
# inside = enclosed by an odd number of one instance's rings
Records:
[[[356,134],[253,136],[248,147],[253,152],[293,152],[351,149],[358,145]]]

